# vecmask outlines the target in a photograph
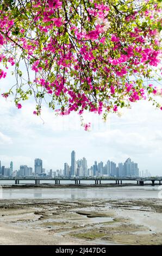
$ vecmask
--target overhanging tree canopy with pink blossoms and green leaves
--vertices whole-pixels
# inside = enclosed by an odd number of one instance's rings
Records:
[[[2,0],[0,79],[15,67],[2,96],[16,106],[34,95],[56,113],[117,112],[153,100],[160,68],[160,0]],[[23,63],[23,64],[22,64]],[[21,70],[23,66],[23,69]]]

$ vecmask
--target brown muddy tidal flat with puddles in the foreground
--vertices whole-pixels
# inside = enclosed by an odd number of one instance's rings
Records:
[[[162,245],[162,200],[0,200],[0,245],[113,244]]]

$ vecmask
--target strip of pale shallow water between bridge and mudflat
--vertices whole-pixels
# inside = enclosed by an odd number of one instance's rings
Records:
[[[159,198],[162,186],[86,187],[86,188],[2,188],[0,199],[117,199]]]

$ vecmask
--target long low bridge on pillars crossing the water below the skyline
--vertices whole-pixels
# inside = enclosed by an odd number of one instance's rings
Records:
[[[154,185],[162,185],[162,177],[151,177],[151,178],[104,178],[104,177],[93,177],[93,178],[62,178],[62,177],[55,177],[55,178],[42,178],[42,177],[0,177],[0,181],[5,180],[5,181],[15,181],[15,184],[20,184],[20,181],[35,181],[36,185],[40,184],[40,181],[52,181],[54,180],[55,185],[60,185],[61,181],[63,180],[68,180],[68,181],[74,181],[74,184],[80,185],[82,181],[94,181],[95,185],[100,185],[102,181],[114,181],[116,185],[122,184],[122,181],[135,181],[138,185],[143,186],[144,182],[146,181],[151,181],[152,186]],[[157,181],[155,183],[155,181]],[[129,182],[128,182],[129,183]]]

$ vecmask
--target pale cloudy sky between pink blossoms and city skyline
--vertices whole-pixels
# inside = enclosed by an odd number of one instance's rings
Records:
[[[0,81],[0,94],[9,87],[12,78]],[[12,83],[13,84],[13,83]],[[22,104],[0,96],[0,160],[1,165],[14,169],[20,164],[34,167],[34,159],[43,160],[43,168],[60,169],[71,163],[71,151],[76,159],[86,157],[90,167],[94,161],[124,162],[128,157],[138,162],[139,169],[162,176],[162,111],[152,103],[140,101],[132,109],[123,109],[122,117],[111,114],[107,123],[102,116],[86,114],[92,123],[90,132],[80,126],[78,114],[55,117],[48,107],[42,108],[42,119],[33,114],[35,102]]]

